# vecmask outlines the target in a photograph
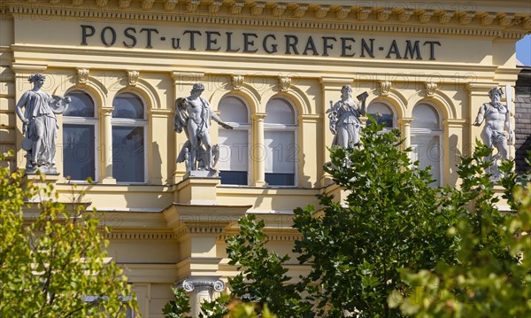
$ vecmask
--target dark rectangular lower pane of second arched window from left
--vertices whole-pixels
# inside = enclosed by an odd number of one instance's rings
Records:
[[[118,182],[145,182],[142,127],[112,127],[112,176]]]

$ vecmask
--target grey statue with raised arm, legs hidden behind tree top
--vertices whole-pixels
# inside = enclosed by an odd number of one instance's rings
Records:
[[[341,100],[334,104],[330,101],[330,109],[327,110],[330,119],[330,131],[334,135],[332,145],[343,148],[354,148],[359,143],[359,132],[361,130],[360,116],[366,114],[365,92],[358,96],[361,104],[352,99],[352,88],[345,85],[341,89]]]

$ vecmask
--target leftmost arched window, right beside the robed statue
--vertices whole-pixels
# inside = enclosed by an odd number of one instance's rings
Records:
[[[66,94],[72,103],[63,112],[63,175],[74,181],[96,180],[97,118],[94,99],[83,90]]]

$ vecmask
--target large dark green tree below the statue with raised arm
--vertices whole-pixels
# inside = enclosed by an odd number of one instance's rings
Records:
[[[396,316],[387,296],[401,288],[401,268],[453,261],[453,239],[445,233],[456,215],[441,209],[429,171],[400,146],[398,131],[381,134],[380,126],[369,125],[359,149],[333,149],[325,167],[347,191],[345,202],[322,195],[317,217],[312,206],[296,210],[303,238],[295,252],[312,264],[305,283],[319,316]]]

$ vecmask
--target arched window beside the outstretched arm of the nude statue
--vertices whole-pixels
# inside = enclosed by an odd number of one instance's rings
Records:
[[[219,117],[233,127],[219,127],[219,175],[221,184],[249,184],[249,108],[238,97],[223,97]]]

